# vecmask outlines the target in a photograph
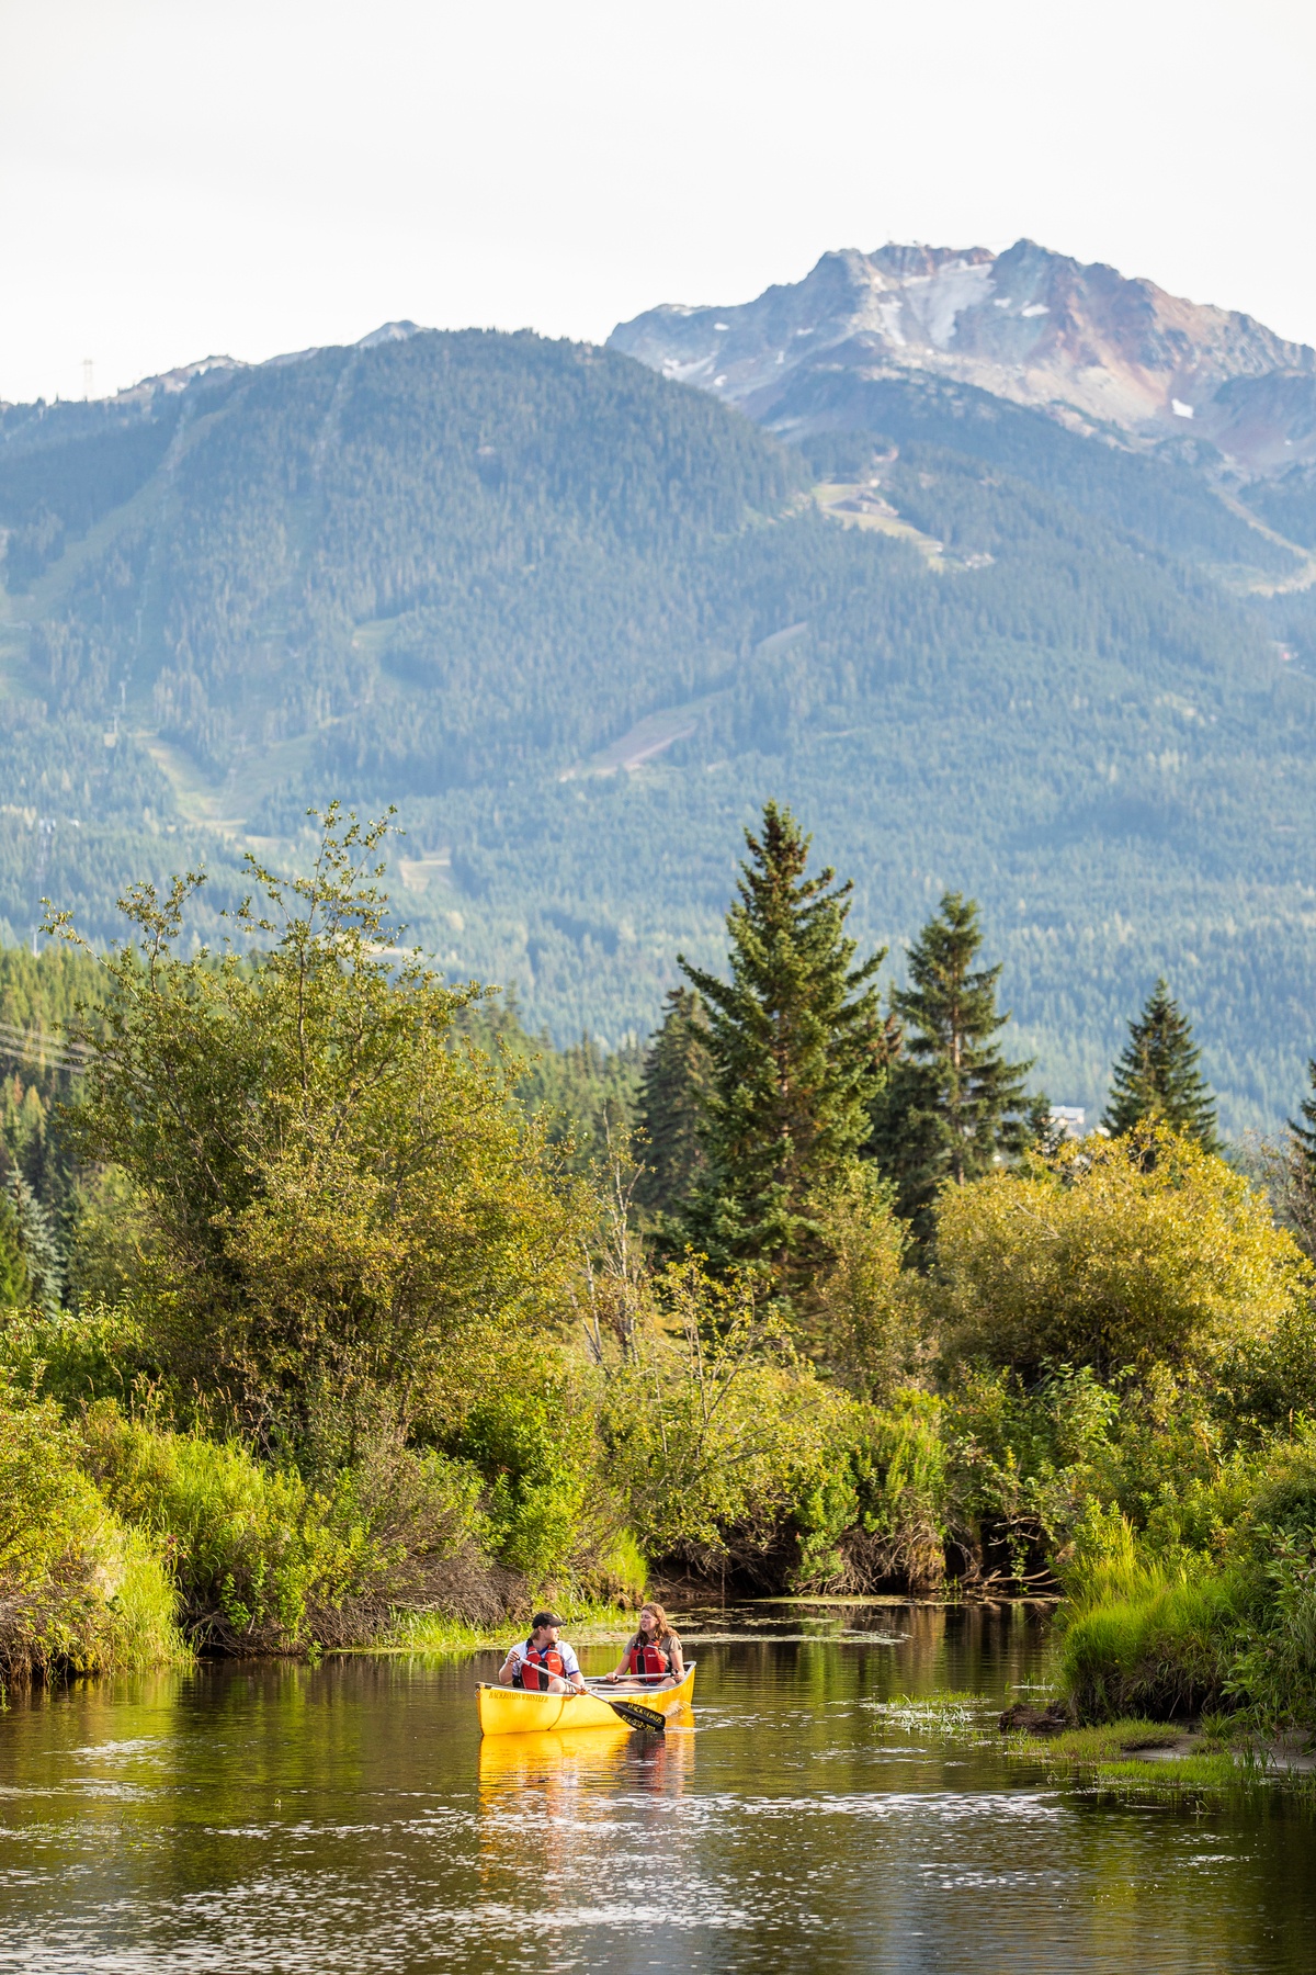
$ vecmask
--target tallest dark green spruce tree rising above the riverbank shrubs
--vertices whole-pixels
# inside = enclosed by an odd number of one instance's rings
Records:
[[[819,1189],[868,1134],[886,1049],[872,986],[886,950],[852,966],[852,885],[807,877],[809,843],[769,802],[726,914],[730,982],[681,960],[708,1009],[712,1072],[689,1226],[716,1264],[766,1264],[787,1294],[817,1250]]]

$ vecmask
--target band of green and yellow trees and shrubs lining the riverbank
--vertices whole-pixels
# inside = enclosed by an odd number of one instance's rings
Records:
[[[1046,1594],[1077,1720],[1316,1722],[1316,1100],[1223,1155],[1158,982],[1065,1138],[973,901],[884,986],[771,804],[724,974],[535,1061],[385,831],[251,859],[217,954],[182,875],[0,956],[6,1681],[657,1576]]]

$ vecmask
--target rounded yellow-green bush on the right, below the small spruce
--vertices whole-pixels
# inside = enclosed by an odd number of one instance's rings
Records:
[[[937,1282],[947,1353],[1113,1371],[1269,1331],[1310,1264],[1223,1159],[1154,1128],[949,1187]]]

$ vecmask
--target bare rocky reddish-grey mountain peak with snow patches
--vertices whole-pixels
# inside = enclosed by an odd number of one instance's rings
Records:
[[[1085,433],[1206,440],[1245,476],[1316,460],[1316,350],[1026,239],[827,253],[754,302],[665,304],[608,344],[781,436],[841,423],[835,385],[827,417],[811,403],[819,373],[927,371]]]

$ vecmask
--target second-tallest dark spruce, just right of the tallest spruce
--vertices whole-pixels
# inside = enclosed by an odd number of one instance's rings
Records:
[[[902,1053],[872,1108],[868,1151],[896,1185],[896,1213],[933,1234],[937,1191],[1018,1157],[1046,1120],[1026,1096],[1028,1063],[1006,1063],[994,1037],[1000,966],[975,968],[983,946],[973,899],[947,891],[910,948],[910,986],[892,993]]]

